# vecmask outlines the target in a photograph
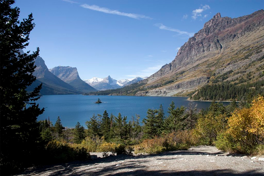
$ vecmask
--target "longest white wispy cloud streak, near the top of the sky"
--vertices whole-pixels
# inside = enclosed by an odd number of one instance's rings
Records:
[[[149,16],[141,15],[141,14],[136,14],[136,13],[125,13],[125,12],[120,12],[118,10],[111,10],[105,7],[99,7],[97,5],[89,5],[89,4],[82,4],[81,7],[85,9],[90,9],[94,11],[99,11],[103,13],[110,13],[110,14],[115,14],[115,15],[121,15],[121,16],[127,16],[129,18],[135,18],[135,19],[140,19],[140,18],[146,18],[146,19],[153,19]]]

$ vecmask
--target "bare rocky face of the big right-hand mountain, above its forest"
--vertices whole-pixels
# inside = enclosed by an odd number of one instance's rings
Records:
[[[148,87],[155,89],[148,89],[142,94],[138,92],[137,95],[168,96],[167,92],[170,92],[169,95],[186,92],[207,84],[214,75],[241,67],[247,70],[246,65],[253,61],[251,58],[263,56],[254,56],[264,48],[263,26],[263,10],[238,18],[221,17],[217,13],[189,38],[171,63],[144,80]],[[170,83],[166,84],[166,81]],[[166,93],[153,93],[157,90]]]

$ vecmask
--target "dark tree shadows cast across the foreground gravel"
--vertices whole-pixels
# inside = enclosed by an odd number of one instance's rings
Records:
[[[217,153],[218,154],[218,153]],[[219,153],[221,154],[221,153]],[[156,160],[160,156],[170,156],[170,155],[215,155],[212,153],[206,153],[203,151],[192,151],[192,150],[182,150],[182,151],[172,151],[153,155],[140,155],[140,156],[130,156],[130,155],[118,155],[110,156],[107,158],[94,159],[89,161],[75,161],[65,164],[56,165],[46,165],[41,167],[36,167],[30,169],[21,175],[264,175],[264,173],[259,173],[258,170],[251,170],[248,172],[237,173],[232,169],[219,169],[211,170],[213,168],[208,168],[208,170],[200,171],[175,171],[175,170],[151,170],[151,167],[144,165],[144,159],[154,157]],[[179,156],[180,157],[180,156]],[[131,160],[126,160],[131,159]],[[126,161],[124,161],[126,160]],[[124,162],[122,162],[124,161]],[[113,162],[113,163],[112,163]],[[118,162],[117,165],[114,162]],[[107,165],[105,165],[108,163]],[[101,165],[102,164],[102,165]]]

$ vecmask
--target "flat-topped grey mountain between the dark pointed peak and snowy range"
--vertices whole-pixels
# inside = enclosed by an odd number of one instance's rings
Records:
[[[79,90],[82,93],[97,91],[79,77],[76,67],[58,66],[49,69],[49,71],[58,78],[60,78],[62,81],[70,84],[72,87],[74,87],[75,89]]]

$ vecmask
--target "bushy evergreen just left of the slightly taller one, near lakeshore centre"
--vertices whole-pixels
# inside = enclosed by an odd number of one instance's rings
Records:
[[[152,139],[154,138],[157,133],[158,129],[156,126],[157,120],[156,120],[156,114],[158,113],[157,109],[148,109],[147,111],[147,118],[143,119],[143,123],[145,124],[143,132],[144,132],[144,138]]]

